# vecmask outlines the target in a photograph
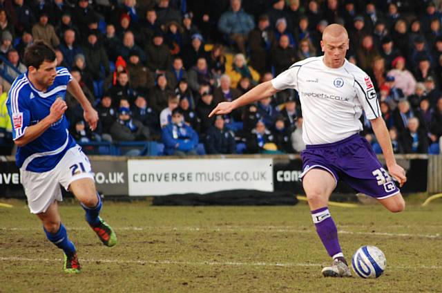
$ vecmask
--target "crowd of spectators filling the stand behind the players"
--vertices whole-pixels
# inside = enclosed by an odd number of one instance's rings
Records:
[[[145,141],[166,155],[294,153],[302,143],[295,91],[209,118],[302,59],[321,55],[329,23],[350,39],[349,62],[371,77],[395,153],[439,153],[442,135],[442,1],[0,0],[0,55],[18,72],[42,39],[99,113],[90,132],[66,95],[78,142]],[[17,77],[5,64],[0,69]],[[0,143],[10,140],[1,79]],[[363,135],[381,152],[370,123]]]

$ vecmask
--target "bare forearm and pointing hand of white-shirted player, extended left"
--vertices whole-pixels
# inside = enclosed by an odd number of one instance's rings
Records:
[[[209,114],[209,117],[212,117],[213,115],[228,114],[236,108],[262,100],[265,97],[271,97],[276,93],[278,93],[278,90],[273,88],[271,82],[263,82],[232,102],[222,102],[218,104],[218,106],[216,106]]]

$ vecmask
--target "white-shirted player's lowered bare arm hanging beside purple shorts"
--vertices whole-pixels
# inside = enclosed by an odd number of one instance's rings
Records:
[[[396,163],[396,159],[394,158],[392,141],[390,140],[387,126],[385,126],[385,122],[382,117],[377,117],[376,119],[370,120],[370,122],[372,123],[374,135],[376,135],[376,139],[381,145],[388,171],[402,187],[405,182],[407,182],[407,177],[405,177],[405,170]]]

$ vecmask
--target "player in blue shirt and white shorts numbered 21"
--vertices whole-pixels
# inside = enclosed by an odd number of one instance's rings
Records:
[[[90,129],[97,127],[98,115],[77,81],[66,68],[57,67],[55,52],[37,41],[24,55],[28,67],[15,79],[8,93],[8,113],[17,144],[16,162],[32,214],[43,223],[50,242],[64,252],[64,271],[81,270],[75,245],[69,240],[58,211],[62,185],[74,193],[86,211],[86,220],[108,247],[117,243],[113,229],[99,217],[102,201],[95,189],[90,162],[68,132],[64,98],[69,91],[84,109]]]

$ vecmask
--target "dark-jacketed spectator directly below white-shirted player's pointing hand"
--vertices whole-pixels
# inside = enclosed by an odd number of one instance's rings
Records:
[[[204,137],[204,147],[209,155],[236,153],[235,133],[225,127],[222,115],[216,115]]]

